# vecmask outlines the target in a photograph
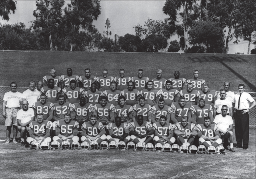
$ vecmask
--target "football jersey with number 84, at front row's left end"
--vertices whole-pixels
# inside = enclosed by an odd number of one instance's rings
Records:
[[[29,137],[35,139],[36,137],[50,137],[51,122],[43,121],[41,124],[38,121],[32,121],[29,124]]]

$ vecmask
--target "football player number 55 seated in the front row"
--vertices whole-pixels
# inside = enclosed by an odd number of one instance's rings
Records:
[[[142,115],[138,115],[137,121],[131,122],[129,124],[129,128],[131,140],[135,144],[141,142],[143,144],[143,148],[145,148],[146,144],[153,139],[155,133],[151,122],[143,119]]]

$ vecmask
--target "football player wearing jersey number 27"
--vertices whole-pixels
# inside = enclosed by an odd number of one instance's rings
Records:
[[[97,91],[96,89],[97,89],[96,83],[92,83],[91,90],[84,92],[86,103],[90,103],[92,105],[99,103],[101,91]]]

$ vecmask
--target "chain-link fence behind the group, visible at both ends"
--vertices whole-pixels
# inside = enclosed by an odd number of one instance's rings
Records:
[[[18,87],[17,91],[19,91],[20,93],[23,93],[25,90],[27,90],[28,87]],[[2,110],[3,110],[3,96],[5,95],[5,93],[7,93],[8,91],[10,91],[10,87],[9,86],[0,86],[0,105],[1,105],[1,108],[0,108],[0,113],[2,114]],[[235,94],[236,93],[239,93],[239,92],[234,92]],[[255,100],[255,97],[256,97],[256,94],[255,92],[248,92],[252,97],[253,99]],[[255,130],[256,129],[256,108],[252,108],[250,111],[249,111],[249,116],[250,116],[250,119],[249,119],[249,127],[250,129],[252,130]],[[3,118],[3,116],[1,115],[0,117],[0,124],[5,124],[5,119]]]

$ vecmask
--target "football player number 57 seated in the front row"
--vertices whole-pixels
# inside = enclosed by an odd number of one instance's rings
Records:
[[[172,130],[173,125],[166,120],[166,117],[162,115],[160,116],[159,122],[153,124],[153,129],[155,130],[155,144],[161,143],[162,146],[164,146],[165,143],[169,143],[170,145],[175,143]]]

